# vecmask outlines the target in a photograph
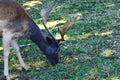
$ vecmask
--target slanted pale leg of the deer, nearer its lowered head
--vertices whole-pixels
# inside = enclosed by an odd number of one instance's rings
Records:
[[[25,70],[28,70],[29,68],[26,67],[26,65],[25,65],[25,63],[24,63],[24,61],[23,61],[23,59],[21,57],[19,46],[18,46],[17,41],[15,39],[11,41],[11,45],[12,45],[13,49],[16,51],[16,53],[17,53],[17,57],[19,59],[21,67],[24,68]]]

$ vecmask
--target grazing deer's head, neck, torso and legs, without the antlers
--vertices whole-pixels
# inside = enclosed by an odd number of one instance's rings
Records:
[[[28,36],[42,50],[52,65],[58,62],[59,46],[56,40],[49,38],[38,28],[34,21],[26,14],[24,9],[13,0],[0,0],[0,33],[3,37],[4,48],[4,75],[10,80],[8,71],[9,47],[16,51],[21,67],[28,70],[19,51],[16,39]]]

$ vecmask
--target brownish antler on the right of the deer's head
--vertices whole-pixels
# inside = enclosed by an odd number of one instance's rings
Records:
[[[70,29],[70,27],[79,19],[78,14],[72,14],[70,18],[67,20],[65,25],[62,27],[62,29],[58,28],[58,31],[61,35],[61,39],[59,41],[64,41],[64,35],[66,32]]]

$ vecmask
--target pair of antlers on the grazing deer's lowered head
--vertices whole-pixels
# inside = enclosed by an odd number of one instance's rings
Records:
[[[40,11],[40,15],[42,17],[43,20],[43,25],[45,27],[45,29],[47,30],[47,32],[49,33],[50,36],[52,36],[54,38],[54,36],[52,35],[52,33],[49,31],[49,29],[46,26],[46,22],[47,19],[49,17],[50,12],[53,10],[55,6],[49,6],[48,8],[43,8]],[[60,41],[64,41],[64,35],[66,34],[66,32],[70,29],[70,27],[79,19],[79,15],[78,14],[72,14],[70,16],[70,18],[67,20],[67,22],[65,23],[65,25],[62,27],[62,29],[58,28],[58,31],[61,35],[61,39],[58,40],[58,42]],[[55,38],[54,38],[55,39]]]

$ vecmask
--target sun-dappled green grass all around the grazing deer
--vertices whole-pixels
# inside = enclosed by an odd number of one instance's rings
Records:
[[[39,10],[54,0],[42,2],[17,0],[41,25]],[[61,0],[50,14],[51,21],[66,21],[69,14],[82,17],[66,36],[60,50],[60,62],[51,66],[37,46],[26,38],[20,38],[21,54],[30,72],[21,71],[15,52],[9,57],[12,79],[18,80],[120,80],[120,2],[118,0]],[[55,23],[56,24],[56,23]],[[54,35],[57,29],[50,25]],[[41,26],[40,26],[41,27]],[[3,74],[3,52],[0,51],[0,74]],[[40,70],[36,70],[39,68]]]

